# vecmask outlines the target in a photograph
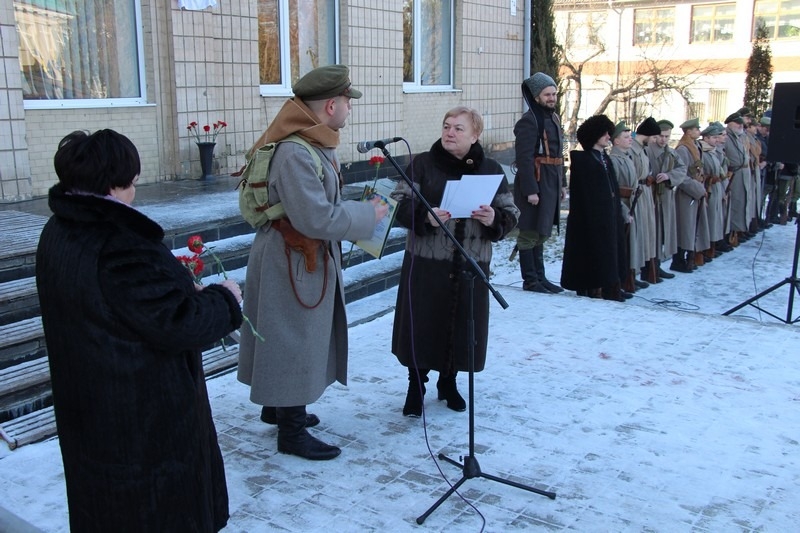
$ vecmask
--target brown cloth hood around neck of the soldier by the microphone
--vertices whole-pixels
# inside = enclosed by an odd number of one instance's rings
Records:
[[[291,134],[297,134],[309,144],[320,148],[339,146],[339,132],[321,124],[316,114],[299,98],[286,100],[267,131],[255,142],[248,157],[265,144],[280,141]]]

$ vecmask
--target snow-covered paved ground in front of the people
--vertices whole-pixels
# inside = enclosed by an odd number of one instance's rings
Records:
[[[790,276],[796,234],[775,226],[625,303],[523,292],[513,243],[499,243],[492,283],[509,307],[492,303],[487,367],[474,379],[475,458],[557,497],[467,479],[423,525],[446,479],[461,477],[436,457],[469,453],[469,416],[429,394],[424,419],[404,418],[406,373],[389,351],[396,293],[352,303],[350,383],[310,408],[322,419],[311,431],[342,447],[339,458],[277,453],[276,429],[235,375],[209,381],[230,491],[224,531],[796,531],[800,327],[750,306],[721,316]],[[546,249],[553,281],[559,250],[558,238]],[[785,317],[789,293],[760,306]],[[466,396],[466,375],[459,388]],[[4,507],[69,530],[57,439],[0,447],[0,477]]]

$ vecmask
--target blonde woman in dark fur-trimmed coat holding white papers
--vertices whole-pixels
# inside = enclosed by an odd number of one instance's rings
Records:
[[[451,109],[444,116],[441,138],[415,157],[406,173],[434,206],[439,220],[488,275],[492,243],[516,227],[519,210],[502,167],[486,157],[478,142],[482,131],[483,118],[476,110]],[[456,218],[442,208],[448,181],[460,181],[463,176],[496,180],[497,175],[502,178],[491,201],[475,205],[468,218]],[[469,264],[407,183],[401,181],[392,197],[399,202],[397,223],[409,229],[392,336],[392,353],[408,367],[403,415],[422,415],[430,370],[439,372],[439,400],[447,400],[447,407],[454,411],[464,411],[466,402],[456,388],[456,373],[468,369]],[[474,286],[475,371],[480,372],[486,362],[489,291],[483,283]]]

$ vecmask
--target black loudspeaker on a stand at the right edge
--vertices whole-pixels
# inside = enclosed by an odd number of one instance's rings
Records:
[[[800,163],[800,83],[776,83],[768,161]]]

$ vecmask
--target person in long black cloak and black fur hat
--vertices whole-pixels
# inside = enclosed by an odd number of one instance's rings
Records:
[[[625,277],[624,221],[619,184],[605,152],[614,123],[589,117],[578,128],[582,151],[570,152],[569,215],[561,285],[579,296],[622,301]]]

